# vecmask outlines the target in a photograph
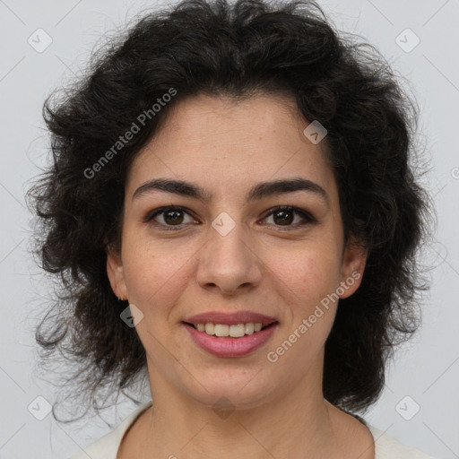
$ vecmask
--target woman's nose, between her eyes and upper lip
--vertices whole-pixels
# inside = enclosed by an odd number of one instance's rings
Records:
[[[263,262],[240,223],[226,235],[211,228],[204,246],[196,254],[196,280],[204,289],[234,295],[238,289],[255,287],[263,273]]]

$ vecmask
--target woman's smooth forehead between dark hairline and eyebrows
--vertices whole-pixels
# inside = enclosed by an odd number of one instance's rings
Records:
[[[326,142],[311,143],[303,134],[308,124],[286,97],[182,100],[134,160],[127,194],[152,178],[198,182],[217,196],[238,194],[259,182],[302,177],[333,195]]]

